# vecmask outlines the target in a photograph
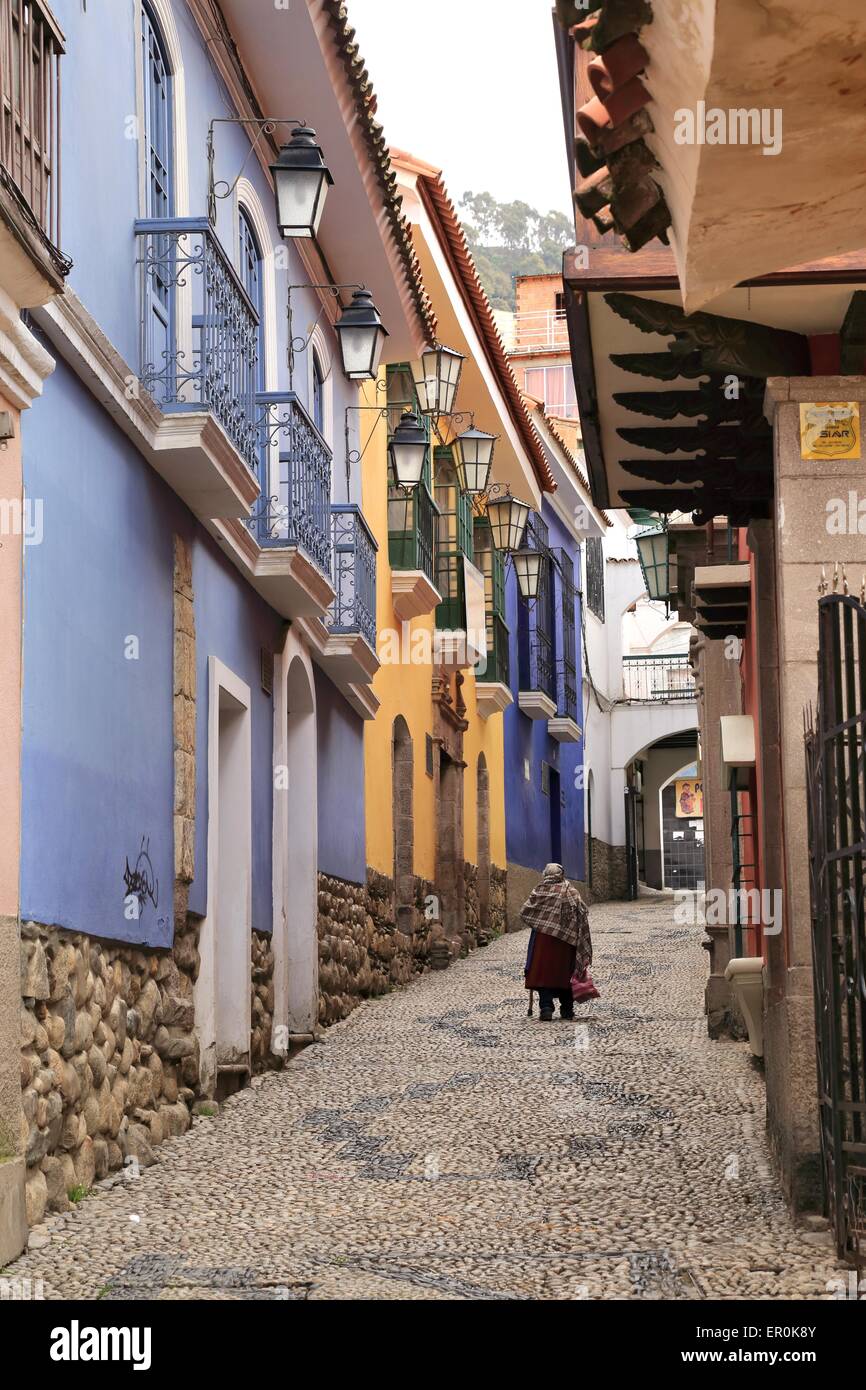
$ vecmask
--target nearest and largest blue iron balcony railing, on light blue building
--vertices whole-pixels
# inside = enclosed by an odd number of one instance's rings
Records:
[[[140,384],[165,411],[209,410],[260,461],[259,314],[206,217],[135,224]]]

